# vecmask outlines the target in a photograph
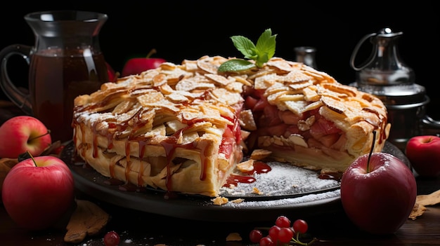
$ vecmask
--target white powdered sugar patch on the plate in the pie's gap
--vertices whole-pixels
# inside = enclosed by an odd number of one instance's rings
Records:
[[[254,175],[256,181],[251,184],[239,183],[234,188],[223,187],[221,196],[229,198],[302,196],[339,188],[339,181],[321,179],[316,171],[299,168],[289,163],[268,162],[267,164],[272,168],[270,172]],[[252,193],[255,188],[260,194]]]

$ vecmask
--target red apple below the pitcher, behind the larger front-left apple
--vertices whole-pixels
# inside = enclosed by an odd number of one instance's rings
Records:
[[[0,126],[0,157],[18,158],[29,151],[39,156],[52,144],[51,135],[41,121],[32,116],[15,116]]]

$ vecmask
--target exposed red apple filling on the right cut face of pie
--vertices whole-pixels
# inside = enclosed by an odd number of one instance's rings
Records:
[[[257,130],[248,141],[250,146],[268,149],[275,158],[315,170],[323,166],[310,163],[325,162],[325,168],[343,170],[344,165],[339,166],[340,163],[353,158],[346,149],[345,132],[321,116],[318,108],[297,115],[290,110],[280,111],[265,97],[259,100],[254,100],[254,95],[249,97],[253,98],[246,102],[255,103],[246,106],[258,119]]]

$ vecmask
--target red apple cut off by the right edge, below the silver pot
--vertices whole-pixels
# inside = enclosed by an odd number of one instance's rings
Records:
[[[406,143],[405,154],[418,175],[440,176],[440,137],[430,135],[411,137]]]

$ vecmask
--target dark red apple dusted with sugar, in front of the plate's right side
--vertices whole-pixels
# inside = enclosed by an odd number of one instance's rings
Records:
[[[347,217],[363,231],[389,234],[408,219],[417,196],[410,168],[389,153],[358,157],[341,179],[341,201]]]

